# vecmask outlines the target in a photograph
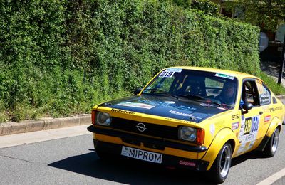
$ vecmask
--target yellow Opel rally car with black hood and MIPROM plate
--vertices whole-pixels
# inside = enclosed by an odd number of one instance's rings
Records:
[[[95,151],[209,171],[222,183],[232,157],[274,156],[284,105],[253,75],[212,68],[161,70],[132,97],[92,110]]]

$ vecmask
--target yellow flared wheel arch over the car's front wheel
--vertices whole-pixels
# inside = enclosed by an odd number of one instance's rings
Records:
[[[232,154],[234,153],[234,145],[236,143],[237,137],[230,128],[223,128],[219,130],[219,132],[214,137],[212,143],[209,145],[209,149],[207,150],[206,154],[202,159],[204,161],[209,162],[209,166],[207,170],[209,170],[214,163],[214,160],[216,159],[217,155],[219,154],[219,151],[222,149],[222,146],[226,142],[230,142],[232,144]]]

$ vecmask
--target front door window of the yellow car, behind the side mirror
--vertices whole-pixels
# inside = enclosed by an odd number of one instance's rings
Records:
[[[244,102],[250,102],[252,105],[257,106],[259,105],[258,97],[257,84],[255,81],[244,81],[242,85],[242,100],[244,100]]]

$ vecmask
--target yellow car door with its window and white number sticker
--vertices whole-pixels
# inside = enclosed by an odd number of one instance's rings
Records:
[[[256,148],[264,135],[261,131],[264,129],[264,112],[260,106],[259,90],[257,88],[257,79],[247,78],[242,81],[241,104],[244,102],[252,103],[251,110],[242,110],[240,129],[239,129],[239,149],[237,154],[242,154]]]

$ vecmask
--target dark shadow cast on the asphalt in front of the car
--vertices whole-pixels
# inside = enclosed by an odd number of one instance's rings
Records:
[[[95,152],[48,164],[58,169],[123,184],[210,184],[206,174],[185,169],[166,169],[132,159],[101,160]]]

